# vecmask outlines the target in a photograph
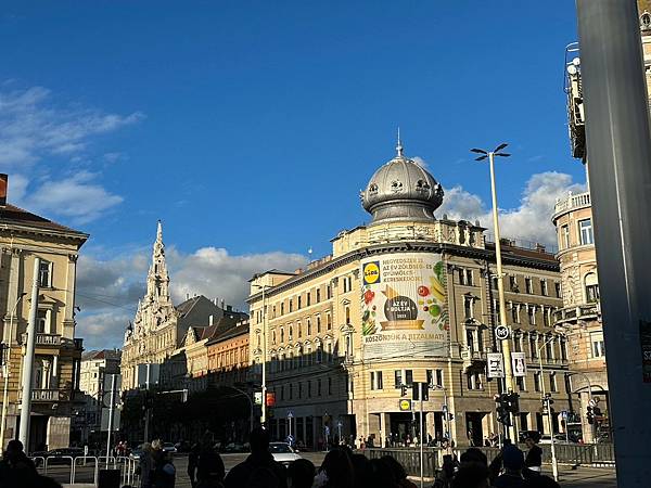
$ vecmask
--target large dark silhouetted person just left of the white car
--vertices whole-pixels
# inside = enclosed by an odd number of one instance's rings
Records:
[[[269,433],[254,428],[250,444],[251,455],[229,471],[224,480],[226,488],[286,488],[285,470],[269,452]]]

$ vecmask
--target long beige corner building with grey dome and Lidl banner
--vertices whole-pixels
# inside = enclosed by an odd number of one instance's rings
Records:
[[[502,386],[485,373],[486,354],[501,348],[494,245],[478,222],[436,219],[441,184],[397,150],[361,193],[369,224],[340,232],[332,255],[304,270],[251,281],[250,355],[258,381],[266,358],[277,437],[286,435],[289,413],[308,446],[340,432],[376,445],[418,436],[418,414],[400,409],[400,385],[413,382],[436,386],[424,401],[427,435],[447,435],[445,400],[458,444],[499,431],[493,397]],[[567,363],[552,328],[562,306],[559,265],[540,245],[505,240],[502,255],[511,349],[524,352],[528,367],[518,381],[518,426],[548,432],[541,382],[560,407]]]

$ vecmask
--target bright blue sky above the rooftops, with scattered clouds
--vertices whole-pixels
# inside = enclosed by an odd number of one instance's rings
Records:
[[[202,259],[234,283],[329,253],[367,219],[358,191],[398,125],[459,217],[489,201],[468,150],[510,142],[505,218],[551,242],[522,221],[584,180],[562,91],[575,18],[562,1],[3,2],[0,170],[10,201],[92,235],[80,290],[125,317],[157,218],[177,295],[242,299],[193,282]],[[117,328],[82,305],[84,326]]]

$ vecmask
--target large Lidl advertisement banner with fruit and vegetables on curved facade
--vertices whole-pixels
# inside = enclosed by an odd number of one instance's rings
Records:
[[[361,261],[366,359],[447,354],[449,320],[439,254],[399,253]]]

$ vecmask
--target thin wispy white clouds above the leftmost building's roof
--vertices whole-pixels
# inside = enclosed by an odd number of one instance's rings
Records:
[[[42,87],[0,91],[0,170],[10,174],[11,203],[86,223],[123,201],[101,184],[99,174],[79,169],[92,165],[90,142],[144,115],[106,114],[79,104],[64,107],[51,99]],[[118,154],[104,158],[115,162]]]

